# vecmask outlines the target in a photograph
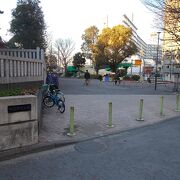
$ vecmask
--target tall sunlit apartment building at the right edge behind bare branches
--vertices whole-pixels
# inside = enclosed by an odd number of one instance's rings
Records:
[[[163,36],[163,72],[166,80],[179,83],[180,75],[180,18],[179,0],[166,0]],[[175,35],[175,36],[174,36]],[[176,89],[176,87],[175,87]],[[178,89],[178,88],[177,88]]]

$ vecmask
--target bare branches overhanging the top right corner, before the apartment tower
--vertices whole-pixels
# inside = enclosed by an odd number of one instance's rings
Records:
[[[155,13],[155,27],[169,36],[165,41],[180,45],[180,1],[179,0],[141,0],[148,9]]]

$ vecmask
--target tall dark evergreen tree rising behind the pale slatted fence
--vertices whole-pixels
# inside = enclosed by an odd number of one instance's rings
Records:
[[[14,34],[10,43],[16,47],[46,48],[46,26],[39,0],[18,0],[12,11],[10,32]]]

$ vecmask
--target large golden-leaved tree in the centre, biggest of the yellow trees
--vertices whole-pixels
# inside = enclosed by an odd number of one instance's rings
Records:
[[[132,30],[123,25],[104,28],[98,41],[104,45],[104,55],[113,72],[126,57],[137,52],[136,45],[131,40]]]

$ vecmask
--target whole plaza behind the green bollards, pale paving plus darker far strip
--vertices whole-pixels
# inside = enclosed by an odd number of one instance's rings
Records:
[[[117,86],[113,82],[98,80],[91,80],[89,86],[83,83],[83,79],[60,79],[60,89],[66,97],[66,111],[61,114],[56,107],[44,109],[40,142],[79,141],[154,124],[180,114],[174,111],[176,93],[172,91],[172,84],[158,84],[155,91],[154,84],[146,82],[122,82]],[[163,116],[160,115],[162,95]],[[140,99],[144,100],[144,121],[136,120],[139,117]],[[109,102],[112,102],[113,128],[107,127]],[[75,109],[74,137],[67,136],[71,106]]]

